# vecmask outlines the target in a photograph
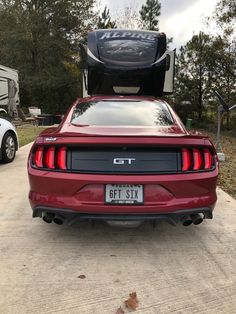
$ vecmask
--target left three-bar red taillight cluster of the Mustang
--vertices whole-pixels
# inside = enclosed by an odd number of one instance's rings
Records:
[[[67,148],[39,146],[33,154],[32,162],[36,168],[66,170]]]

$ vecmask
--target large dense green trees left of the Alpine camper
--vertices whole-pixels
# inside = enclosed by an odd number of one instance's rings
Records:
[[[1,64],[19,70],[21,104],[65,111],[80,93],[78,41],[94,0],[0,0]]]

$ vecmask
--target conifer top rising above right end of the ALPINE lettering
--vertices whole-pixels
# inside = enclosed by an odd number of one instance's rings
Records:
[[[147,0],[139,11],[143,28],[151,31],[159,31],[158,17],[161,14],[161,3],[158,0]]]

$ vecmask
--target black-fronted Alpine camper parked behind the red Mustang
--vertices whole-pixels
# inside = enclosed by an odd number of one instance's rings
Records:
[[[81,47],[83,92],[88,95],[173,93],[175,51],[152,31],[96,30]]]

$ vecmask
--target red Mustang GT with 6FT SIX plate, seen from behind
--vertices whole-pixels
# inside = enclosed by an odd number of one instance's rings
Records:
[[[36,139],[28,172],[33,217],[48,223],[196,225],[212,218],[217,199],[211,141],[153,97],[78,99]]]

